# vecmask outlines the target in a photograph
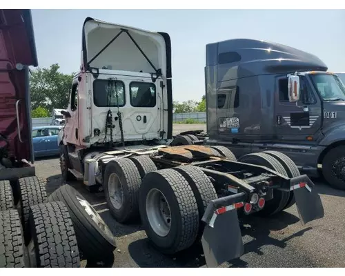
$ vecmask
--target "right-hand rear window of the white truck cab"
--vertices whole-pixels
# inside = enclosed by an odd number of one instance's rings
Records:
[[[156,106],[156,86],[147,82],[130,83],[130,104],[136,108]]]

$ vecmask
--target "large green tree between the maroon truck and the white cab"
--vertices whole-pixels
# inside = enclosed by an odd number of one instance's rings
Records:
[[[37,68],[30,75],[30,94],[32,110],[39,106],[52,110],[53,108],[66,108],[73,74],[66,75],[59,72],[59,64],[50,68]]]

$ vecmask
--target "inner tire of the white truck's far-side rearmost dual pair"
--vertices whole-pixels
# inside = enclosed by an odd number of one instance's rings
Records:
[[[279,161],[266,153],[249,153],[248,155],[240,157],[238,161],[259,166],[266,166],[271,170],[275,170],[276,172],[287,176],[286,170],[279,163]],[[264,209],[260,210],[258,214],[263,216],[270,216],[279,213],[288,203],[289,196],[290,192],[273,190],[273,199],[266,201]]]

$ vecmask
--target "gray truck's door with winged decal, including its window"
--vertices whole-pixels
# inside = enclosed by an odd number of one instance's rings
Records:
[[[311,81],[300,76],[300,99],[290,102],[288,77],[278,77],[275,82],[275,130],[278,139],[315,140],[322,125],[322,108]],[[315,139],[314,139],[315,138]]]

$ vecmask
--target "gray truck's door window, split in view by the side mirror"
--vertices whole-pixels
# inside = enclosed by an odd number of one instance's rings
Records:
[[[301,92],[301,101],[304,104],[315,103],[315,99],[312,94],[311,86],[305,77],[299,78],[299,89]],[[278,92],[279,92],[279,101],[288,102],[288,78],[279,79],[278,81]],[[293,103],[295,104],[295,103]]]

